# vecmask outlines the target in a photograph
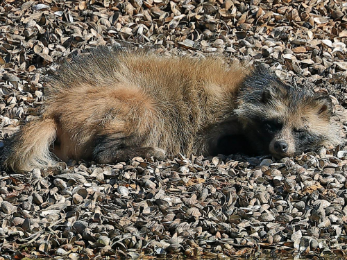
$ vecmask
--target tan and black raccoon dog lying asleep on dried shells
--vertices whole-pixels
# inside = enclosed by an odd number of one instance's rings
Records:
[[[166,153],[281,158],[341,144],[330,98],[285,85],[263,66],[102,47],[62,64],[44,91],[42,117],[3,150],[6,168]]]

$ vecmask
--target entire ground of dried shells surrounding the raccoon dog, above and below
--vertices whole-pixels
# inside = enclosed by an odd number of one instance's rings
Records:
[[[344,123],[346,26],[346,1],[0,1],[0,137],[37,116],[62,59],[125,41],[264,62],[334,95]],[[1,172],[0,259],[345,257],[345,150]]]

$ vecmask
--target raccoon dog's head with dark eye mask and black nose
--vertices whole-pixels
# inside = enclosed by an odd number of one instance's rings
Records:
[[[239,121],[260,153],[279,159],[341,144],[329,96],[285,85],[262,66],[246,78],[237,103]]]

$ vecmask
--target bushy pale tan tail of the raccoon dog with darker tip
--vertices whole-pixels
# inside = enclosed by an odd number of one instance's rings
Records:
[[[49,146],[56,139],[56,132],[53,119],[27,123],[6,141],[1,155],[3,167],[19,173],[54,164]]]

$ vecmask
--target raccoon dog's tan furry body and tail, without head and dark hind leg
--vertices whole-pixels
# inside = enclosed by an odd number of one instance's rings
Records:
[[[24,126],[21,143],[28,147],[17,147],[6,158],[6,166],[30,171],[51,164],[49,146],[64,161],[90,158],[97,136],[117,133],[134,136],[138,146],[160,147],[168,154],[206,154],[205,137],[196,138],[194,133],[230,117],[233,95],[248,73],[216,58],[130,52],[107,60],[117,62],[117,70],[92,64],[90,71],[67,70],[78,75],[53,80],[46,89],[44,119]],[[49,137],[44,137],[46,132]],[[42,145],[33,138],[42,139]]]

